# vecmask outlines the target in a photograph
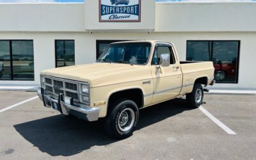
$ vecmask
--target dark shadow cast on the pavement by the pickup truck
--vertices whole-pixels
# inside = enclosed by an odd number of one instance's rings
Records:
[[[189,110],[184,99],[173,99],[140,110],[138,129]],[[103,120],[85,122],[62,115],[14,125],[15,129],[35,147],[51,156],[72,156],[93,146],[115,143],[106,136]]]

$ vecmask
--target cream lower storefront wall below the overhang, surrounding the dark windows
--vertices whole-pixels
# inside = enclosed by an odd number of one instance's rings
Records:
[[[96,59],[96,40],[164,40],[173,42],[180,60],[186,60],[186,40],[241,40],[238,84],[216,84],[221,88],[256,88],[256,33],[18,33],[2,32],[1,40],[34,40],[35,82],[0,81],[0,84],[38,84],[40,71],[55,67],[54,40],[74,39],[76,64],[92,63]]]

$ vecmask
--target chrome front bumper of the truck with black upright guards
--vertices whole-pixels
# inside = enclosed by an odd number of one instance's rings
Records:
[[[58,99],[54,99],[50,95],[46,95],[42,88],[38,88],[37,95],[40,100],[44,102],[45,107],[56,109],[63,115],[74,115],[90,122],[99,119],[99,108],[90,108],[83,104],[74,104],[72,100],[70,100],[68,104],[65,102],[65,97],[63,97],[62,94],[59,95]]]

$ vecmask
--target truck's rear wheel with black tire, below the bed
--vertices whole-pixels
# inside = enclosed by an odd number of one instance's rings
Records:
[[[191,108],[199,107],[204,100],[204,90],[202,85],[196,83],[194,85],[193,91],[186,95],[186,100],[188,102],[188,106],[191,106]]]

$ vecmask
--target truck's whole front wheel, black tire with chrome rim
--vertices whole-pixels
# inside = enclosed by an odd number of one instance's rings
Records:
[[[139,109],[136,103],[129,99],[120,99],[107,116],[104,127],[109,136],[124,139],[132,135],[138,120]]]

